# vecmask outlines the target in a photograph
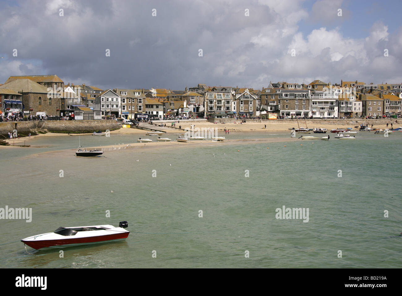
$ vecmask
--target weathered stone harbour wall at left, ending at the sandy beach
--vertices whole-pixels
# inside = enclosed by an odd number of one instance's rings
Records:
[[[119,126],[116,120],[35,120],[35,121],[12,121],[0,122],[0,135],[6,136],[14,129],[21,136],[29,133],[40,132],[94,132],[105,130],[117,130]]]

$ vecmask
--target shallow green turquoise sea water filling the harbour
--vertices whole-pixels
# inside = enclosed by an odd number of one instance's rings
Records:
[[[30,207],[33,219],[0,220],[0,244],[59,226],[118,226],[123,220],[131,233],[121,242],[64,248],[64,258],[57,249],[27,247],[40,256],[1,259],[1,265],[401,267],[402,133],[358,136],[288,141],[288,132],[232,132],[227,139],[248,141],[125,149],[90,158],[62,151],[78,146],[76,136],[30,143],[48,147],[2,149],[0,207]],[[252,140],[269,138],[288,142]],[[136,139],[80,137],[87,147]],[[309,221],[276,219],[275,209],[283,206],[308,208]],[[0,246],[1,258],[27,255],[21,242]]]

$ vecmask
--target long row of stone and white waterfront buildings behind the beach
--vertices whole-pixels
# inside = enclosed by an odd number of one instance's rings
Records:
[[[0,116],[68,116],[80,119],[111,117],[149,119],[207,118],[359,118],[401,116],[402,83],[365,84],[320,80],[272,83],[261,90],[210,87],[185,90],[107,89],[64,85],[57,75],[10,76],[0,85]]]

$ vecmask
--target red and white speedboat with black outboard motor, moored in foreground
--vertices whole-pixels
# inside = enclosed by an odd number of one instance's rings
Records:
[[[98,244],[123,240],[129,235],[125,230],[127,221],[121,221],[119,227],[111,225],[59,227],[54,232],[48,232],[30,236],[21,240],[31,248],[64,248],[68,246],[79,246],[84,244]]]

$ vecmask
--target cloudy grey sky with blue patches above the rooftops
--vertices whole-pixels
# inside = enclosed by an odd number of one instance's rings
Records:
[[[402,83],[400,7],[370,0],[0,0],[0,83],[50,74],[101,89]]]

